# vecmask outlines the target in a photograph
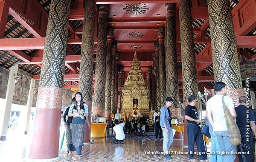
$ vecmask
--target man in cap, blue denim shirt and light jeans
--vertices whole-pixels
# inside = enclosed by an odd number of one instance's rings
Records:
[[[173,142],[173,135],[172,135],[172,112],[169,110],[169,108],[172,106],[172,98],[167,97],[166,98],[166,104],[163,105],[163,107],[160,109],[161,115],[160,115],[160,126],[163,129],[163,152],[166,157],[166,159],[172,159],[172,156],[168,154],[169,148],[172,145]]]

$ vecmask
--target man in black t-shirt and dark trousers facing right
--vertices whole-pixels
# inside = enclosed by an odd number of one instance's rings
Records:
[[[195,162],[194,159],[194,143],[196,142],[198,152],[200,152],[199,159],[200,161],[207,160],[207,153],[204,148],[203,135],[201,133],[201,128],[197,108],[195,107],[197,100],[194,95],[189,96],[189,105],[185,108],[185,119],[188,121],[186,126],[186,131],[188,134],[188,151],[189,159]]]

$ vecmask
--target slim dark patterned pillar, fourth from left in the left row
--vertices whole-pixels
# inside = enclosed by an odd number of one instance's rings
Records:
[[[110,122],[110,110],[111,110],[111,63],[112,63],[112,39],[114,35],[114,29],[108,28],[107,36],[107,56],[106,56],[106,88],[105,88],[105,118],[107,123]]]

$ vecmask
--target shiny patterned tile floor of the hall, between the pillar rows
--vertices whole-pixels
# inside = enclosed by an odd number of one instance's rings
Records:
[[[125,144],[115,144],[113,140],[95,139],[94,144],[83,147],[81,161],[84,162],[164,162],[163,155],[145,154],[145,151],[162,151],[162,141],[125,140]],[[173,151],[172,162],[189,162],[188,155],[178,155],[176,152],[186,152],[182,147],[183,140],[175,140],[170,151]],[[199,161],[198,156],[195,159]],[[69,157],[62,157],[61,162],[70,162]]]

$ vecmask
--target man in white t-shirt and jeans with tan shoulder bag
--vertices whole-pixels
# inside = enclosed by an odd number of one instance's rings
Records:
[[[227,94],[227,85],[224,82],[216,82],[214,90],[216,93],[215,96],[210,98],[207,102],[207,116],[213,127],[214,134],[217,137],[220,148],[219,153],[222,154],[223,161],[233,162],[236,158],[236,154],[232,154],[231,151],[236,152],[236,146],[232,145],[230,142],[222,104],[222,97]],[[224,96],[224,102],[231,116],[236,120],[236,111],[233,100],[229,96]]]

